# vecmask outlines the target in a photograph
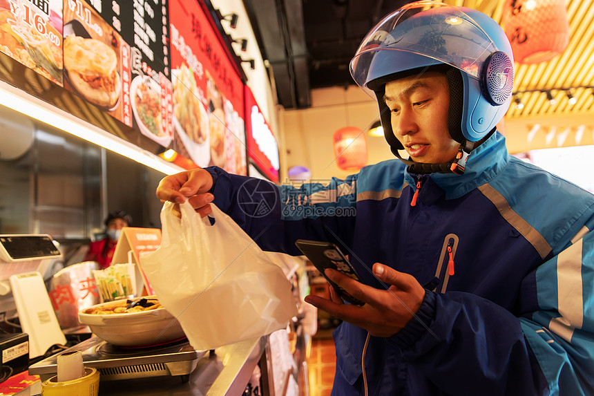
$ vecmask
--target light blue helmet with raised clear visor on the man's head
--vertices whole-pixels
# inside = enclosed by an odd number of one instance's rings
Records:
[[[477,10],[435,1],[407,4],[367,33],[350,64],[358,86],[378,100],[385,137],[396,155],[402,146],[383,102],[385,84],[433,68],[448,77],[448,126],[463,147],[471,150],[468,142],[494,131],[510,106],[513,55],[497,22]]]

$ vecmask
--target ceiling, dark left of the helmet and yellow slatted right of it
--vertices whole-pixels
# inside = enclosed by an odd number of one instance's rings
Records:
[[[311,106],[312,89],[354,84],[348,64],[367,31],[409,2],[244,0],[285,109]],[[506,6],[504,0],[443,2],[475,8],[497,22]],[[524,107],[512,104],[507,117],[594,113],[594,1],[567,1],[566,11],[571,34],[566,50],[548,62],[516,63],[514,93]],[[573,105],[566,96],[569,88],[577,99]],[[555,104],[548,102],[547,90]]]

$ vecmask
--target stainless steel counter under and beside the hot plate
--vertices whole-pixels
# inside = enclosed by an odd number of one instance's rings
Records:
[[[188,382],[180,377],[100,381],[99,396],[237,396],[241,395],[265,351],[268,337],[222,346],[205,355]],[[18,396],[37,395],[39,382]],[[38,387],[39,386],[39,387]]]

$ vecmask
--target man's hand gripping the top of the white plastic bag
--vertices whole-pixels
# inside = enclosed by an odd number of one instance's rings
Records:
[[[195,211],[204,217],[212,211],[209,203],[214,196],[208,192],[212,187],[213,178],[208,171],[192,169],[165,176],[157,187],[157,198],[161,202],[171,201],[177,204],[188,198]]]

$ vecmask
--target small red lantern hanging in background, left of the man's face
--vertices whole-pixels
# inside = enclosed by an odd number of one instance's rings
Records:
[[[358,171],[367,164],[367,138],[362,129],[346,126],[334,132],[334,158],[345,171]]]

